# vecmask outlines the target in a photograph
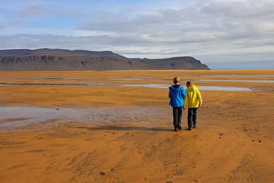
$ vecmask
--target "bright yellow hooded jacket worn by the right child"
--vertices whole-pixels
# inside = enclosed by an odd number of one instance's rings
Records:
[[[186,101],[188,101],[188,108],[195,108],[198,107],[199,104],[202,104],[202,95],[196,85],[190,85],[185,91],[187,95],[183,101],[183,109],[186,108]]]

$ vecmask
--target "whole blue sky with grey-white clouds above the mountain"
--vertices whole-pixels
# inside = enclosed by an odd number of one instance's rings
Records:
[[[273,0],[0,0],[0,49],[193,56],[212,69],[274,69]]]

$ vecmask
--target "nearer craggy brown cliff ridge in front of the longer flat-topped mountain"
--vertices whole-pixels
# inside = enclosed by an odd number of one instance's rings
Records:
[[[54,55],[32,55],[21,57],[0,57],[0,70],[34,71],[34,70],[144,70],[153,69],[139,62],[120,60],[105,56],[87,60],[68,59]]]

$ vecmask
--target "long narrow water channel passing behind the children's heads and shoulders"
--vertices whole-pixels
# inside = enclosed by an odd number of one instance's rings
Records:
[[[149,88],[166,88],[170,85],[168,84],[92,84],[92,83],[0,83],[0,85],[22,85],[22,86],[29,86],[29,85],[61,85],[61,86],[129,86],[129,87],[149,87]],[[252,91],[249,88],[241,88],[241,87],[225,87],[225,86],[198,86],[200,90],[217,90],[217,91]]]

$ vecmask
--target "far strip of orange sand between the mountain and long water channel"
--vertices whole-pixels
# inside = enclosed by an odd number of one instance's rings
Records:
[[[224,74],[227,75],[224,77]],[[94,85],[170,84],[179,75],[182,82],[193,80],[200,86],[273,88],[273,70],[162,70],[162,71],[74,71],[74,72],[0,72],[0,82],[8,83],[78,83]],[[220,75],[218,77],[218,75]],[[235,76],[236,75],[236,76]],[[242,75],[242,76],[241,76]],[[246,76],[250,77],[246,77]],[[256,77],[258,76],[258,77]],[[263,76],[263,77],[262,77]],[[269,77],[266,77],[269,76]],[[267,78],[267,79],[266,79]],[[199,80],[200,79],[200,80]],[[207,80],[204,80],[207,79]],[[217,81],[214,81],[216,80]],[[262,83],[254,80],[262,80]],[[213,80],[213,81],[212,81]],[[226,81],[223,81],[226,80]],[[236,82],[231,80],[238,80]],[[246,82],[243,82],[245,80]],[[248,82],[250,81],[250,82]],[[243,84],[244,83],[244,84]]]

